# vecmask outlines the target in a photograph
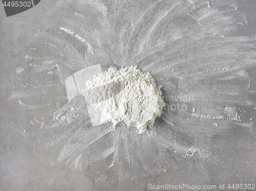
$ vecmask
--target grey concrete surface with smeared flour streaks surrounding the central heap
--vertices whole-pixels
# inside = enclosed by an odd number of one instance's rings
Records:
[[[41,0],[6,17],[1,7],[0,190],[256,184],[255,10],[249,0]],[[93,127],[80,98],[69,102],[68,77],[97,64],[135,64],[162,85],[166,107],[148,133]]]

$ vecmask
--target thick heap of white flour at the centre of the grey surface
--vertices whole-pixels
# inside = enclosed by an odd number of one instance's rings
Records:
[[[150,73],[142,73],[137,66],[118,70],[110,67],[86,81],[82,95],[101,112],[100,122],[135,126],[138,133],[152,128],[164,106],[161,86],[157,87]]]

